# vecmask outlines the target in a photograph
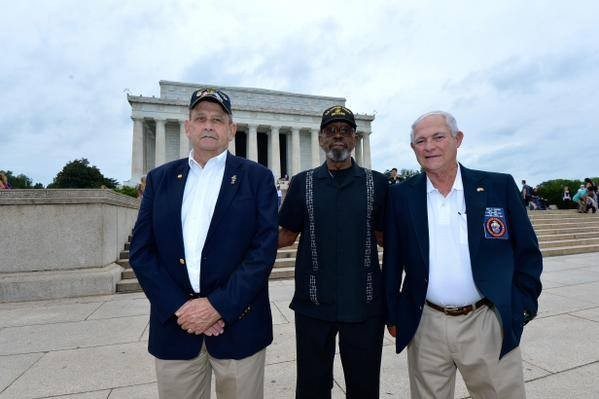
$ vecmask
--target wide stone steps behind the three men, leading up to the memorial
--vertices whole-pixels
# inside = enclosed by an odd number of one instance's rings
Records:
[[[530,220],[535,228],[544,257],[599,252],[599,213],[580,214],[576,210],[530,211]],[[297,242],[282,248],[270,274],[271,280],[291,279],[294,275]],[[382,250],[379,248],[382,259]],[[141,288],[129,266],[129,243],[121,251],[116,262],[125,270],[117,283],[117,292],[137,292]]]

